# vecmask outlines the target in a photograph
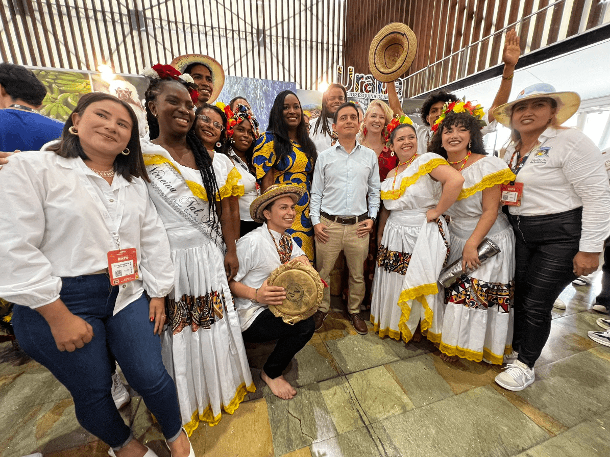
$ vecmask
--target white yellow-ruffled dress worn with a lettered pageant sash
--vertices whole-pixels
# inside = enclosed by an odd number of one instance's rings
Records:
[[[234,413],[247,392],[254,392],[254,383],[224,274],[223,238],[220,227],[210,223],[201,174],[156,144],[143,141],[142,152],[149,195],[167,230],[176,269],[174,289],[165,299],[163,363],[176,383],[190,435],[199,422],[215,425],[222,411]],[[234,186],[239,190],[240,175],[231,160],[222,154],[214,159],[220,194],[232,194]]]

